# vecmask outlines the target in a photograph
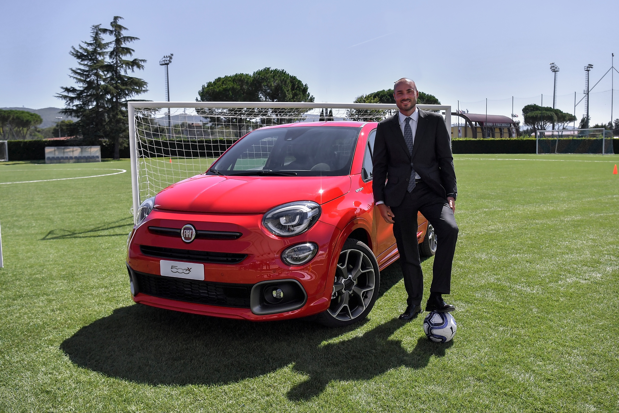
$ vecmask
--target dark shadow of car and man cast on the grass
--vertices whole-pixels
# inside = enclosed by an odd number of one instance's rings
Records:
[[[398,273],[386,271],[381,292],[401,279]],[[80,367],[149,385],[234,383],[292,365],[309,377],[287,396],[305,400],[330,381],[369,380],[402,366],[423,368],[451,346],[420,337],[409,352],[401,341],[389,339],[404,324],[394,318],[362,336],[324,344],[360,324],[331,329],[302,320],[250,323],[136,304],[84,326],[60,348]]]

